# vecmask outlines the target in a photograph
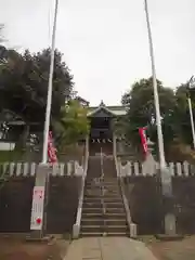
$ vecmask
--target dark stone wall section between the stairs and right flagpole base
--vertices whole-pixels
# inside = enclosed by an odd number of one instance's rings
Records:
[[[162,233],[160,186],[154,177],[126,177],[126,196],[138,234]]]

